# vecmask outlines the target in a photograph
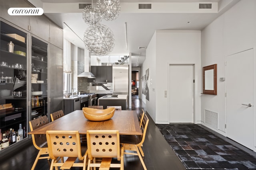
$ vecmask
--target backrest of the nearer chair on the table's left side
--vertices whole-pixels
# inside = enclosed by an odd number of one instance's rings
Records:
[[[39,117],[37,119],[29,121],[30,131],[37,129],[43,125],[49,123],[48,117],[46,115]],[[47,147],[46,135],[36,135],[32,134],[33,145],[36,149],[40,150],[42,147]]]

